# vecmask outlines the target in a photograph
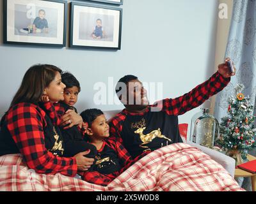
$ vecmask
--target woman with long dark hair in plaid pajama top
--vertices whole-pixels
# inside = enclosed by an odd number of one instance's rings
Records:
[[[51,103],[63,100],[64,88],[61,69],[56,66],[38,64],[26,71],[9,110],[1,119],[0,156],[20,153],[28,167],[38,173],[74,177],[77,170],[88,170],[93,164],[93,159],[84,157],[88,151],[61,157],[65,147],[60,129],[52,124],[40,103],[45,95]]]

